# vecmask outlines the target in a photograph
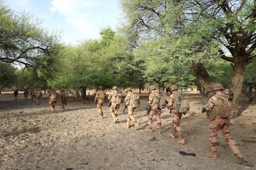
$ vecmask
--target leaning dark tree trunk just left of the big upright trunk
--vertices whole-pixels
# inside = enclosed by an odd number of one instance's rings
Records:
[[[207,73],[205,66],[202,63],[194,64],[191,66],[191,70],[196,75],[196,81],[198,84],[202,86],[202,89],[204,89],[204,95],[208,95],[210,92],[213,92],[213,84],[215,84],[215,81]]]

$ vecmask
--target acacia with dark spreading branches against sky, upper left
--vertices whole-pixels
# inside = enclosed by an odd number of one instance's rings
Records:
[[[52,73],[62,45],[57,33],[40,28],[40,22],[25,12],[19,14],[0,0],[0,62]]]

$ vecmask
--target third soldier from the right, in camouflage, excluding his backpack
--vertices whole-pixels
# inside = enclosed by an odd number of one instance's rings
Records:
[[[154,96],[159,94],[159,91],[156,89],[155,86],[149,86],[149,90],[151,94],[149,95],[149,105],[152,107],[151,111],[149,112],[149,119],[148,119],[148,125],[149,127],[146,129],[146,132],[152,132],[152,119],[155,116],[157,118],[157,133],[161,133],[161,109],[156,108],[154,103]]]

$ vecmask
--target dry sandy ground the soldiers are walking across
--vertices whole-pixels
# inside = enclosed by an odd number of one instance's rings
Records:
[[[21,94],[21,92],[20,92]],[[209,151],[209,120],[201,109],[208,98],[196,92],[190,97],[191,110],[182,117],[184,145],[171,132],[171,115],[167,108],[162,112],[162,133],[146,133],[145,108],[148,92],[141,95],[141,106],[135,110],[140,130],[125,127],[127,114],[118,113],[118,123],[113,123],[108,105],[104,103],[104,119],[93,101],[70,99],[68,111],[62,112],[60,100],[55,113],[50,113],[47,95],[40,106],[24,101],[22,95],[0,94],[0,167],[1,169],[256,169],[256,106],[241,101],[241,116],[232,125],[232,137],[241,150],[245,163],[237,159],[221,133],[218,134],[218,159],[205,157]],[[125,96],[125,94],[124,94]],[[181,155],[179,151],[195,153]]]

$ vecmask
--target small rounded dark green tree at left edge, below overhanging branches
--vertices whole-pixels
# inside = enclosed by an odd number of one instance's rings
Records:
[[[0,93],[4,88],[13,88],[16,85],[18,78],[16,68],[11,64],[0,62]]]

